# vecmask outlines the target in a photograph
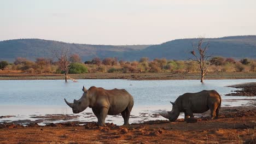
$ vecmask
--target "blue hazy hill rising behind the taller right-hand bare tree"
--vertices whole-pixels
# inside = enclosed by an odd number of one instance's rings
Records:
[[[191,58],[190,51],[193,50],[192,43],[196,44],[198,39],[177,39],[152,45],[136,52],[127,52],[125,57],[138,59],[138,57],[167,58],[167,59],[188,59]],[[241,58],[256,58],[256,35],[234,36],[223,38],[205,39],[210,43],[207,53],[213,56]]]

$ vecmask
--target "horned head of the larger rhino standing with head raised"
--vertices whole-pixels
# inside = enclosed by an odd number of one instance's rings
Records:
[[[82,91],[84,92],[82,97],[79,100],[74,99],[74,103],[69,103],[66,99],[66,104],[72,108],[73,113],[79,113],[84,111],[89,106],[89,92],[83,87]]]

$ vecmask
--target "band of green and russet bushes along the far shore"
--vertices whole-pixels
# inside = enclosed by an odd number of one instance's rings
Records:
[[[249,72],[256,71],[255,59],[235,60],[233,58],[213,57],[209,62],[213,64],[208,69],[210,72]],[[165,58],[155,58],[149,61],[142,57],[139,61],[118,61],[118,58],[93,58],[91,61],[82,62],[79,55],[69,57],[69,73],[194,73],[199,72],[199,65],[195,61],[176,61]],[[37,58],[36,61],[29,61],[26,58],[18,57],[14,63],[0,62],[2,70],[20,70],[24,73],[63,73],[60,69],[60,62],[54,62],[48,58]]]

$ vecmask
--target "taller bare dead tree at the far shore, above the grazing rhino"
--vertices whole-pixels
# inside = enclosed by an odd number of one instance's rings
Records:
[[[207,43],[204,47],[202,47],[204,39],[205,38],[203,37],[199,38],[197,46],[192,44],[193,51],[190,52],[195,57],[195,59],[193,58],[191,59],[193,61],[196,61],[199,64],[200,72],[201,72],[201,82],[203,82],[203,79],[205,78],[207,70],[212,64],[210,61],[208,61],[212,56],[207,55],[207,50],[209,48],[210,43]],[[216,61],[218,61],[218,59],[216,59]]]

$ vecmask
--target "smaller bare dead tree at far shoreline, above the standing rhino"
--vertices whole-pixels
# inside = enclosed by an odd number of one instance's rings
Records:
[[[53,52],[55,57],[58,59],[59,67],[62,71],[64,71],[65,75],[65,82],[67,82],[68,79],[71,79],[68,76],[68,71],[70,69],[70,62],[69,62],[69,50],[68,49],[61,49],[60,52],[54,51]]]

